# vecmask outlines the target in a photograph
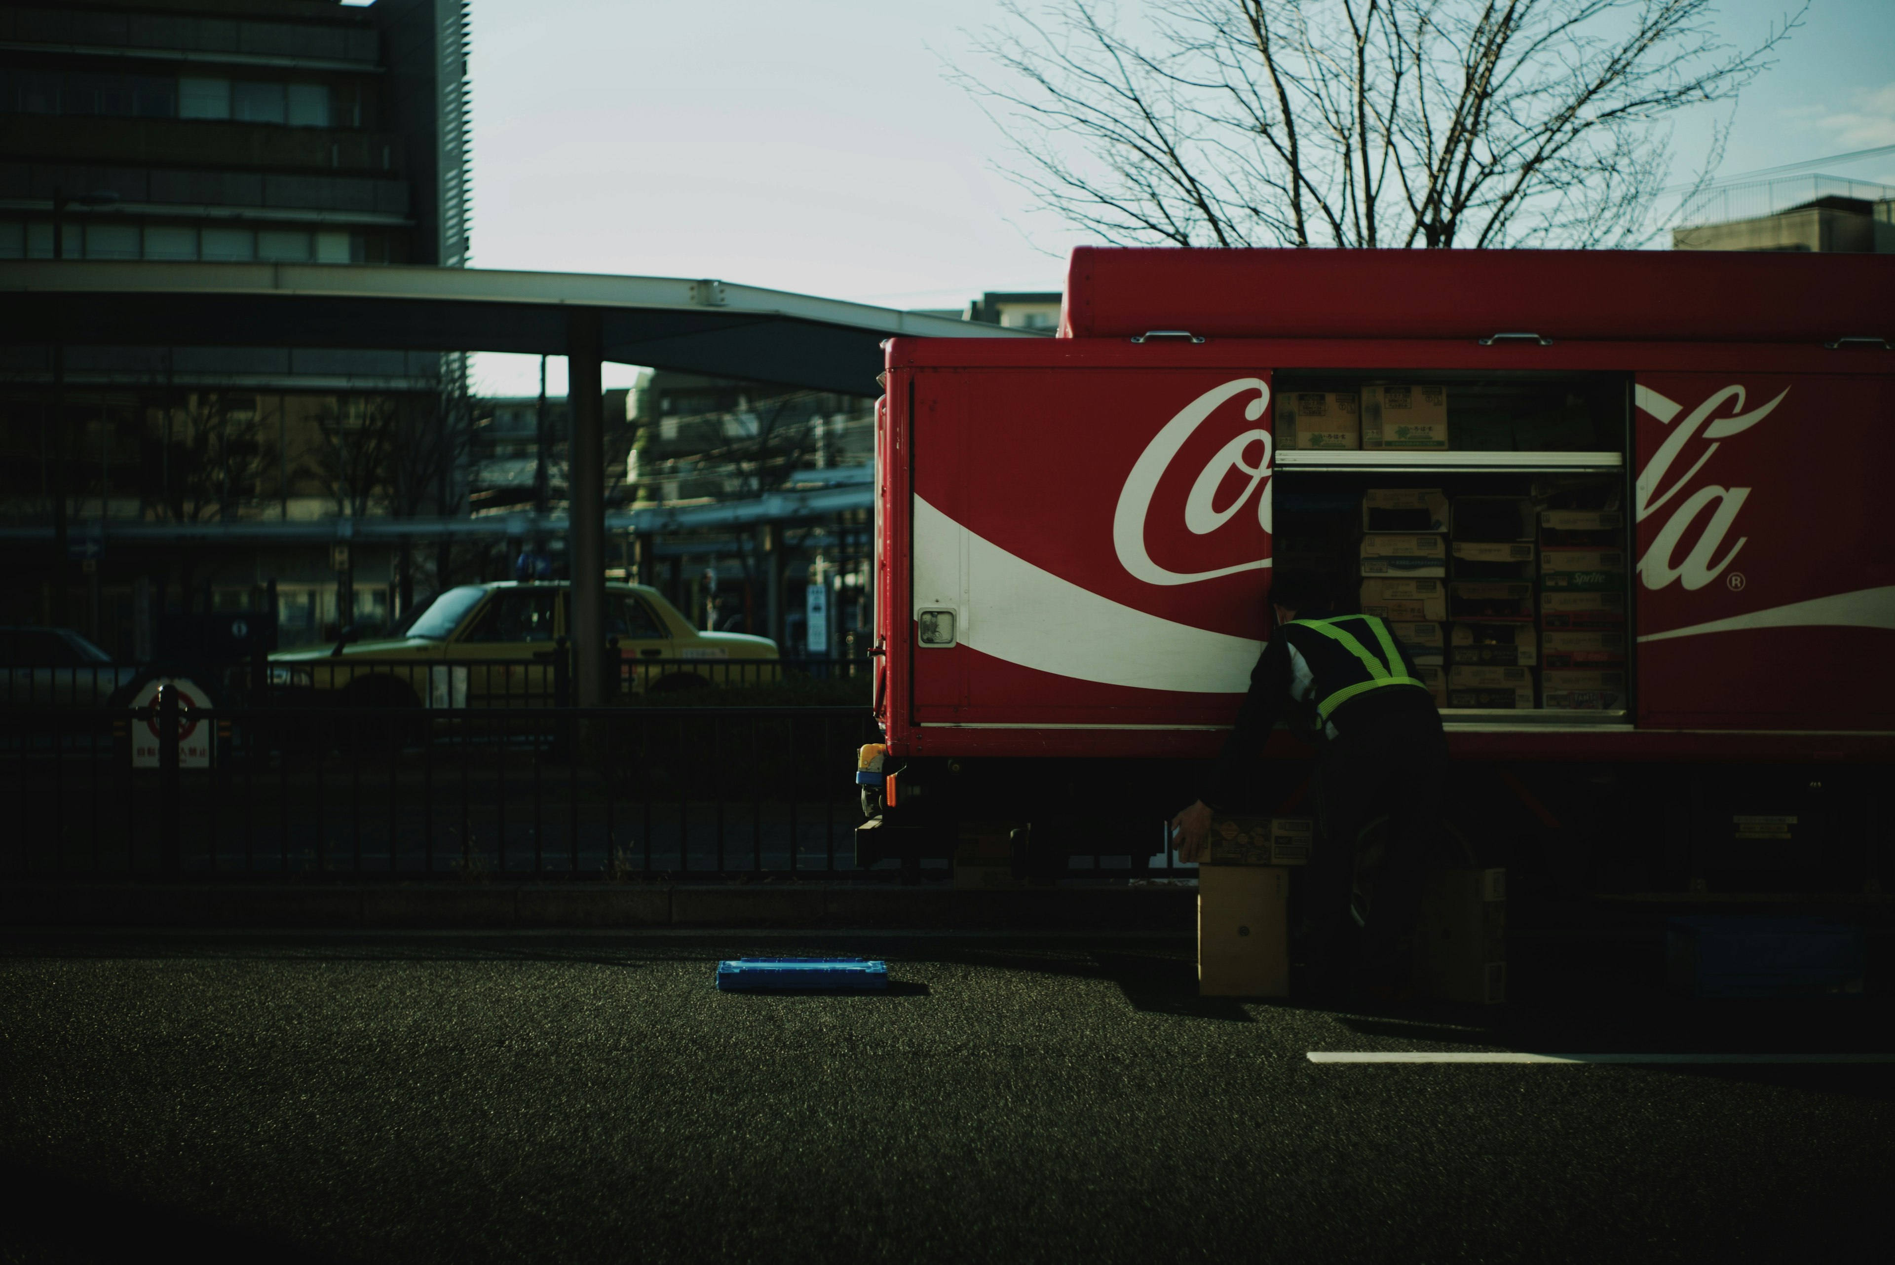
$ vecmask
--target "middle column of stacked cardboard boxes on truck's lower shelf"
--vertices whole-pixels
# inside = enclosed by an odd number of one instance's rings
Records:
[[[1520,496],[1457,496],[1450,555],[1448,706],[1533,708],[1533,504]]]

